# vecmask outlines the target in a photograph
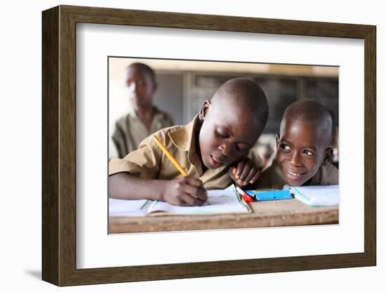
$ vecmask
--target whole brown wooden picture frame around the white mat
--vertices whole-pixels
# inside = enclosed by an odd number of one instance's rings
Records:
[[[57,6],[43,12],[42,279],[58,286],[376,264],[375,26]],[[76,268],[76,23],[363,39],[364,253]]]

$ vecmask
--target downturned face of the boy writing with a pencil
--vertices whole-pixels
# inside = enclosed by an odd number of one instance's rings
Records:
[[[199,147],[206,168],[219,168],[245,157],[263,130],[250,113],[227,100],[221,105],[204,102],[199,119],[203,121]]]

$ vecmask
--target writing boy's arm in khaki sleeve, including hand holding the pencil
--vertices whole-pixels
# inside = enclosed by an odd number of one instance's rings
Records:
[[[165,143],[165,134],[162,131],[155,135]],[[152,136],[145,138],[138,150],[124,159],[111,159],[109,197],[152,199],[178,206],[200,206],[208,199],[203,183],[197,178],[181,176],[174,180],[159,180],[161,159],[162,151]]]

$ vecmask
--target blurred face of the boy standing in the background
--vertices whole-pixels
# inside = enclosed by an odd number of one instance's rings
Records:
[[[128,98],[135,107],[151,107],[153,95],[157,85],[154,84],[152,77],[138,67],[129,67],[125,72],[126,88],[128,89]]]

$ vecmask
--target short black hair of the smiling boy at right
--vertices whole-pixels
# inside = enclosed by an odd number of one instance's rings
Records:
[[[291,121],[315,121],[322,127],[326,137],[326,144],[331,142],[333,134],[333,119],[326,107],[314,100],[298,100],[289,105],[284,111],[283,119],[280,124],[280,134],[286,124],[286,120]]]

